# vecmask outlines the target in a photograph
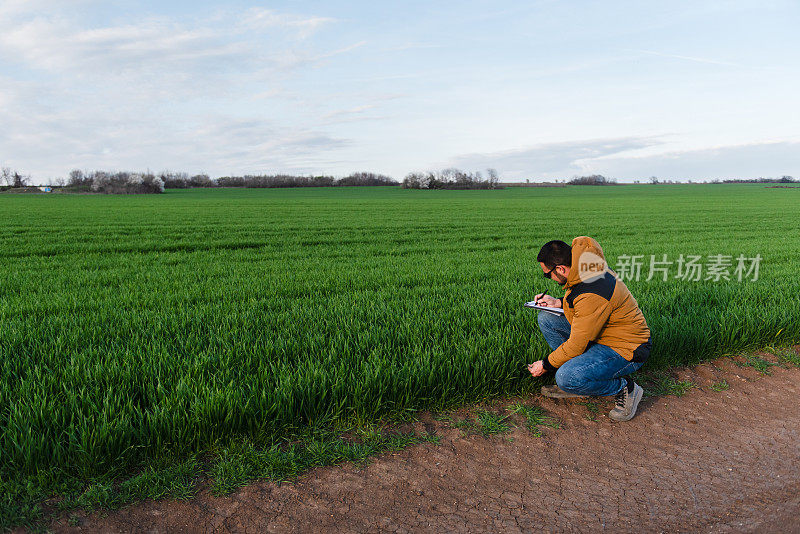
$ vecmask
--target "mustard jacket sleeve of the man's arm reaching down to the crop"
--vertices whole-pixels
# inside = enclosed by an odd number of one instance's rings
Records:
[[[561,367],[567,360],[586,352],[586,346],[597,339],[611,315],[611,303],[595,293],[578,295],[572,306],[575,314],[569,339],[547,356],[545,368]]]

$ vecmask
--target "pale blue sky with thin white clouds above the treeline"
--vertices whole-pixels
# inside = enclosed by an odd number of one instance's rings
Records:
[[[2,0],[0,166],[800,177],[796,0]]]

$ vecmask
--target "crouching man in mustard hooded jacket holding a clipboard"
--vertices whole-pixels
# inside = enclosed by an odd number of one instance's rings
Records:
[[[553,352],[528,370],[533,376],[555,372],[556,386],[542,388],[550,397],[615,395],[609,417],[629,421],[643,390],[627,375],[644,364],[651,347],[636,299],[591,237],[576,237],[572,246],[550,241],[536,259],[545,278],[566,292],[562,299],[536,295],[537,304],[563,308],[564,315],[539,312],[539,328]]]

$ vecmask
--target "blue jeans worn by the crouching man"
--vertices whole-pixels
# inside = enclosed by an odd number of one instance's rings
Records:
[[[539,328],[550,348],[556,350],[569,338],[569,321],[563,315],[539,312]],[[592,343],[583,354],[567,360],[556,370],[556,384],[569,393],[614,395],[622,391],[622,378],[639,369],[643,362],[629,362],[614,349]]]

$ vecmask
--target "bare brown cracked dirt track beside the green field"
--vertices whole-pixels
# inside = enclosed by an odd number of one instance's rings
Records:
[[[765,356],[766,357],[766,356]],[[66,516],[63,532],[798,532],[800,369],[764,376],[730,359],[679,370],[697,387],[645,397],[628,423],[573,399],[522,399],[561,421],[535,437],[465,435],[425,415],[441,443],[315,469],[226,497],[147,501]],[[725,379],[730,388],[714,391]],[[519,400],[519,399],[515,399]],[[500,409],[511,401],[481,408]],[[472,414],[472,415],[470,415]],[[452,414],[474,417],[474,411]],[[516,416],[514,416],[516,417]],[[595,418],[596,420],[592,420]],[[73,519],[73,523],[76,519]]]

